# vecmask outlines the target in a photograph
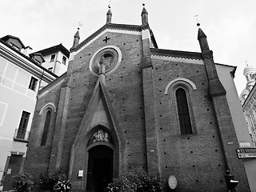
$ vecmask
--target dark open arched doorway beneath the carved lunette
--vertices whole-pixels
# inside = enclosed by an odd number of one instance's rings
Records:
[[[89,151],[86,191],[102,192],[113,179],[113,150],[98,145]]]

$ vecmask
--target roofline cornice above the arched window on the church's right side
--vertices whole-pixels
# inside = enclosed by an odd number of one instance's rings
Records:
[[[189,52],[189,51],[181,51],[181,50],[162,50],[162,49],[155,49],[155,48],[150,48],[150,52],[151,54],[157,55],[157,56],[202,60],[202,54],[197,52]]]

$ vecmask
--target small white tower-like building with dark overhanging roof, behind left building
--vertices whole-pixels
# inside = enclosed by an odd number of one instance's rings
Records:
[[[42,57],[46,61],[42,63],[42,66],[47,70],[50,70],[58,76],[61,76],[66,72],[70,51],[67,50],[65,46],[62,46],[62,43],[57,46],[51,46],[45,50],[38,50],[37,52],[30,54],[30,57],[35,57],[37,54],[42,54]]]

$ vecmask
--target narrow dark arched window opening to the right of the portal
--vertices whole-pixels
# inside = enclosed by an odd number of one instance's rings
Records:
[[[176,100],[181,134],[193,134],[190,121],[190,110],[186,98],[186,91],[184,89],[178,88],[178,90],[176,90]]]

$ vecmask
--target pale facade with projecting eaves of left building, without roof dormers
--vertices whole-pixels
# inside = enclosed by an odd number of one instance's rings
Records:
[[[30,83],[32,78],[36,79],[34,86]],[[41,66],[0,43],[0,180],[4,178],[3,174],[12,174],[11,169],[6,170],[10,168],[8,161],[11,155],[25,158],[38,88],[46,86],[55,78]],[[30,114],[26,134],[17,137],[23,111]]]

